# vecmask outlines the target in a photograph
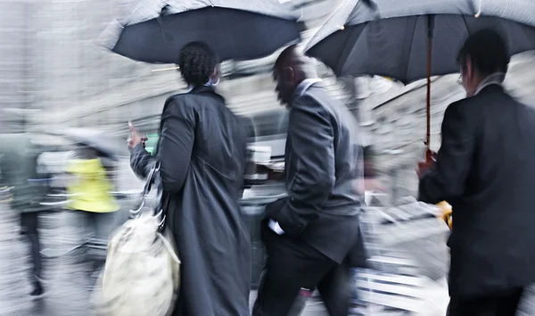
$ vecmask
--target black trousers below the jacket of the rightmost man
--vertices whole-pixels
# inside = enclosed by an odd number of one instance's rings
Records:
[[[523,289],[515,289],[499,295],[489,295],[473,299],[452,297],[449,316],[514,316]]]

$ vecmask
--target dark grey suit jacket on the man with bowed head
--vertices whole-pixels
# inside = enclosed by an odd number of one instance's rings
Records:
[[[362,153],[350,111],[320,84],[290,107],[285,150],[288,198],[274,215],[290,237],[342,262],[358,240]]]

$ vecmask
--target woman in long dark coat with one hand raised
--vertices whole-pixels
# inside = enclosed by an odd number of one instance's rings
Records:
[[[161,162],[169,197],[167,228],[182,261],[173,315],[249,315],[251,245],[238,206],[246,135],[213,89],[218,83],[216,54],[191,43],[181,51],[178,66],[192,89],[166,101],[155,156],[144,150],[135,130],[129,143],[131,166],[140,177],[152,162]]]

